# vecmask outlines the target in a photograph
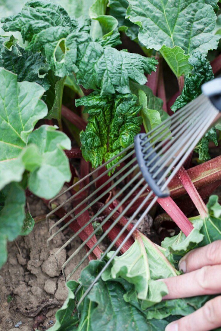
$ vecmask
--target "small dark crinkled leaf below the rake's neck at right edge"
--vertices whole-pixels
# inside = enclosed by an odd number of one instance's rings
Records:
[[[217,136],[216,136],[216,128],[213,126],[198,142],[194,151],[199,154],[200,161],[210,160],[211,157],[209,155],[209,141],[213,141],[216,146],[218,146]]]

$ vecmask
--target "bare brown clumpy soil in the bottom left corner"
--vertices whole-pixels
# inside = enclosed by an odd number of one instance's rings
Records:
[[[28,197],[28,204],[32,216],[43,215],[43,219],[35,224],[28,236],[20,236],[8,243],[8,261],[0,270],[0,331],[14,331],[20,321],[21,331],[47,330],[52,321],[55,323],[55,312],[67,298],[64,277],[57,269],[54,254],[73,232],[67,229],[65,234],[57,235],[48,250],[49,232],[44,217],[48,209],[36,197]],[[50,226],[55,221],[50,220]],[[79,245],[80,239],[77,238],[62,251],[58,257],[59,266]],[[78,258],[83,254],[80,253]],[[67,271],[70,272],[76,263],[78,261],[72,260]],[[78,279],[79,275],[80,270],[74,278]]]

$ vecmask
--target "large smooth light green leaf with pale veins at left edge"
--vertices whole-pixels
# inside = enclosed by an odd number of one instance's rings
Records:
[[[17,75],[0,68],[0,188],[22,179],[25,167],[17,158],[35,123],[47,115],[43,93],[40,85],[17,82]]]

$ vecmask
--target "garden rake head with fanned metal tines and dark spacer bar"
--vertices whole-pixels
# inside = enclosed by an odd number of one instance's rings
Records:
[[[82,243],[61,267],[66,281],[91,254],[103,260],[114,245],[118,243],[116,245],[117,249],[111,258],[84,292],[78,306],[114,257],[124,251],[124,245],[157,199],[169,196],[168,183],[208,128],[220,118],[221,78],[205,83],[202,86],[202,92],[202,95],[147,134],[138,134],[135,137],[134,144],[62,191],[49,202],[49,207],[53,206],[54,209],[47,215],[47,221],[53,214],[62,217],[49,229],[48,246],[50,241],[61,231],[74,222],[77,224],[81,215],[85,215],[85,213],[89,215],[90,213],[89,219],[84,220],[83,226],[78,224],[75,227],[74,235],[55,254],[58,263],[58,255],[61,251],[71,244],[77,236],[82,239]],[[107,175],[111,173],[113,174],[108,177]],[[67,194],[71,194],[73,190],[76,190],[76,192],[66,201],[56,206],[56,200],[63,196],[67,197]],[[114,192],[114,194],[112,195],[110,192]],[[110,235],[114,227],[120,224],[119,222],[121,222],[123,216],[127,215],[138,198],[142,197],[143,200],[138,208],[126,219],[124,224],[121,223],[122,228],[120,227],[117,236],[112,238],[105,252],[100,254],[99,244]],[[130,202],[127,203],[130,198]],[[146,207],[145,205],[150,199],[151,202]],[[137,216],[138,219],[136,219]],[[97,220],[99,220],[99,223],[96,223],[96,227],[91,231],[92,224]],[[133,228],[129,227],[132,221],[134,223]],[[100,230],[103,231],[102,234],[100,234]],[[83,248],[85,248],[86,254],[74,269],[66,275],[65,268]],[[79,291],[79,288],[77,291]]]

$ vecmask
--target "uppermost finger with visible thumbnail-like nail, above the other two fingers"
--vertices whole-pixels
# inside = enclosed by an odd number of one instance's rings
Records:
[[[190,272],[202,268],[205,265],[221,264],[221,240],[192,250],[179,262],[179,269]]]

